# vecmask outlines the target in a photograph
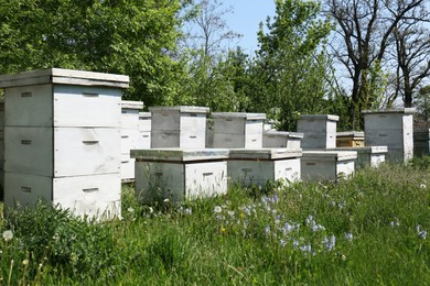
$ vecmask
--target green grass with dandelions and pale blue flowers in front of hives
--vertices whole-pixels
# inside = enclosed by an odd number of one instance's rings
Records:
[[[428,165],[152,208],[125,186],[122,217],[87,223],[41,204],[2,220],[14,235],[0,238],[0,285],[430,282]]]

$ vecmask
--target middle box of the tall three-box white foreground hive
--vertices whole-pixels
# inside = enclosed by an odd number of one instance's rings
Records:
[[[119,173],[120,131],[6,127],[4,169],[40,176]]]

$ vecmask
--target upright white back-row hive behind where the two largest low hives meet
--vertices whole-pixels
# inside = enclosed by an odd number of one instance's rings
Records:
[[[215,148],[260,148],[262,146],[264,113],[212,113],[212,145]]]

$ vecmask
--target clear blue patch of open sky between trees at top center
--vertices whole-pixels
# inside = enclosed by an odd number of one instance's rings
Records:
[[[243,37],[233,42],[248,54],[257,50],[257,31],[260,22],[266,23],[268,15],[275,14],[273,0],[224,0],[225,8],[232,7],[233,13],[225,15],[228,28]]]

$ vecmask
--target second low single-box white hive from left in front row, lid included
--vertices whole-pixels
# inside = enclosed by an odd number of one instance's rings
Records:
[[[301,148],[232,148],[228,177],[232,183],[265,187],[268,180],[300,179]]]

